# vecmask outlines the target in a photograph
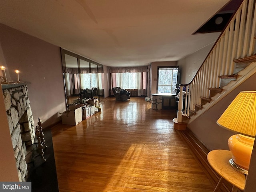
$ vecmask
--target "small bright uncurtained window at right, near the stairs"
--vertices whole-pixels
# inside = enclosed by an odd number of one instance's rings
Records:
[[[178,80],[178,68],[158,67],[158,93],[175,94]]]

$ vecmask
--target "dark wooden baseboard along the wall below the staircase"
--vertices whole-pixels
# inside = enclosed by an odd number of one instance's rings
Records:
[[[191,150],[192,155],[198,162],[199,166],[204,170],[212,185],[216,186],[220,180],[220,176],[212,169],[207,161],[207,154],[209,150],[206,148],[206,146],[204,146],[204,144],[202,144],[200,140],[198,140],[198,138],[196,138],[190,129],[186,128],[184,131],[176,130],[176,132],[184,139]],[[232,185],[229,182],[224,181],[219,192],[231,191]]]

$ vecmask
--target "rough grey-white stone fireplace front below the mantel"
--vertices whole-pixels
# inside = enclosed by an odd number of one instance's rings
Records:
[[[22,85],[2,89],[19,180],[25,181],[27,173],[25,146],[34,143],[35,138],[28,88]]]

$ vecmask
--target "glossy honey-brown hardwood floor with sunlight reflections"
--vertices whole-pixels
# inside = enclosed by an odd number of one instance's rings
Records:
[[[100,106],[77,126],[52,128],[60,192],[214,190],[173,129],[174,110],[152,110],[135,97]]]

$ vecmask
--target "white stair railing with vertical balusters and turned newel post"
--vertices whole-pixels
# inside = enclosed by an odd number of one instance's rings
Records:
[[[256,28],[256,0],[244,0],[225,30],[214,44],[193,80],[186,86],[185,109],[178,108],[177,119],[181,122],[182,110],[185,116],[201,105],[201,98],[209,98],[208,88],[220,88],[220,76],[233,75],[235,59],[253,56]],[[180,99],[182,101],[182,99]]]

